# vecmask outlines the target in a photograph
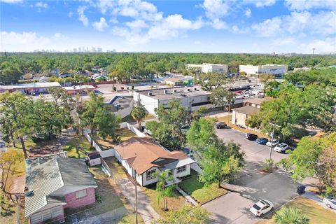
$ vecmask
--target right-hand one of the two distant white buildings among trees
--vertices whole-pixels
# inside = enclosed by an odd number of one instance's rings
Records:
[[[259,74],[273,74],[275,78],[281,78],[288,70],[286,64],[264,64],[264,65],[239,65],[239,72],[245,72],[248,76],[258,76]]]

